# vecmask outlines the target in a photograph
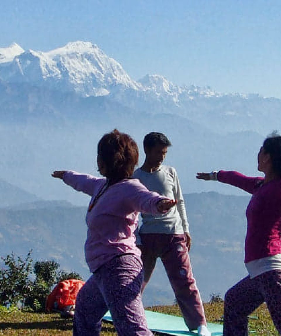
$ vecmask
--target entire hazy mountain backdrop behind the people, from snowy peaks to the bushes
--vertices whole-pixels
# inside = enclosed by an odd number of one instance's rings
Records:
[[[25,230],[21,253],[35,244],[36,256],[53,256],[71,267],[65,259],[69,257],[86,274],[81,226],[86,229],[88,197],[53,179],[52,171],[97,174],[97,142],[114,128],[137,141],[141,164],[144,135],[159,131],[172,142],[165,164],[176,168],[186,195],[199,288],[205,300],[210,291],[219,291],[215,285],[223,294],[245,272],[244,210],[249,196],[217,182],[198,181],[195,175],[218,169],[259,174],[257,152],[267,134],[281,129],[280,111],[281,99],[257,93],[178,86],[161,74],[132,80],[117,60],[90,42],[70,42],[48,52],[24,50],[16,43],[1,47],[0,188],[14,192],[9,200],[2,199],[4,254],[18,246],[18,233]],[[53,245],[53,237],[60,244],[69,227],[70,241],[80,234],[75,254],[67,245],[61,250]],[[55,253],[45,254],[44,244]],[[224,267],[218,272],[220,263]],[[160,266],[157,275],[162,279]],[[166,287],[168,282],[157,289],[159,297],[164,289],[161,302],[173,298]]]

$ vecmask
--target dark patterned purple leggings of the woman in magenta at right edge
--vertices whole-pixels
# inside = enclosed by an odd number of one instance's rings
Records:
[[[281,271],[272,270],[253,279],[248,276],[227,291],[224,336],[248,335],[247,316],[264,301],[276,329],[281,333]]]

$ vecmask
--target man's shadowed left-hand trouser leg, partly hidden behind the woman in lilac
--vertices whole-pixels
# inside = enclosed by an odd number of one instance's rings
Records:
[[[140,238],[142,240],[142,246],[141,246],[142,261],[144,264],[144,281],[142,284],[142,292],[144,291],[147,283],[149,282],[156,265],[157,237],[159,237],[158,234],[140,235]]]

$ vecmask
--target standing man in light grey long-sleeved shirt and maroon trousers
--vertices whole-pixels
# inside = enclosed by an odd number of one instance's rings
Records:
[[[188,254],[191,237],[182,190],[176,170],[162,165],[170,145],[163,133],[147,134],[144,138],[145,162],[133,175],[149,190],[177,200],[177,206],[166,214],[142,214],[139,236],[145,270],[143,290],[159,257],[189,330],[197,329],[198,335],[210,336]]]

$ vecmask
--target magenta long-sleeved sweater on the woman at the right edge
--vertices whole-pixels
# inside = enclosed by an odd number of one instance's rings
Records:
[[[263,184],[263,177],[220,170],[217,179],[253,195],[246,210],[245,262],[281,253],[281,178]]]

